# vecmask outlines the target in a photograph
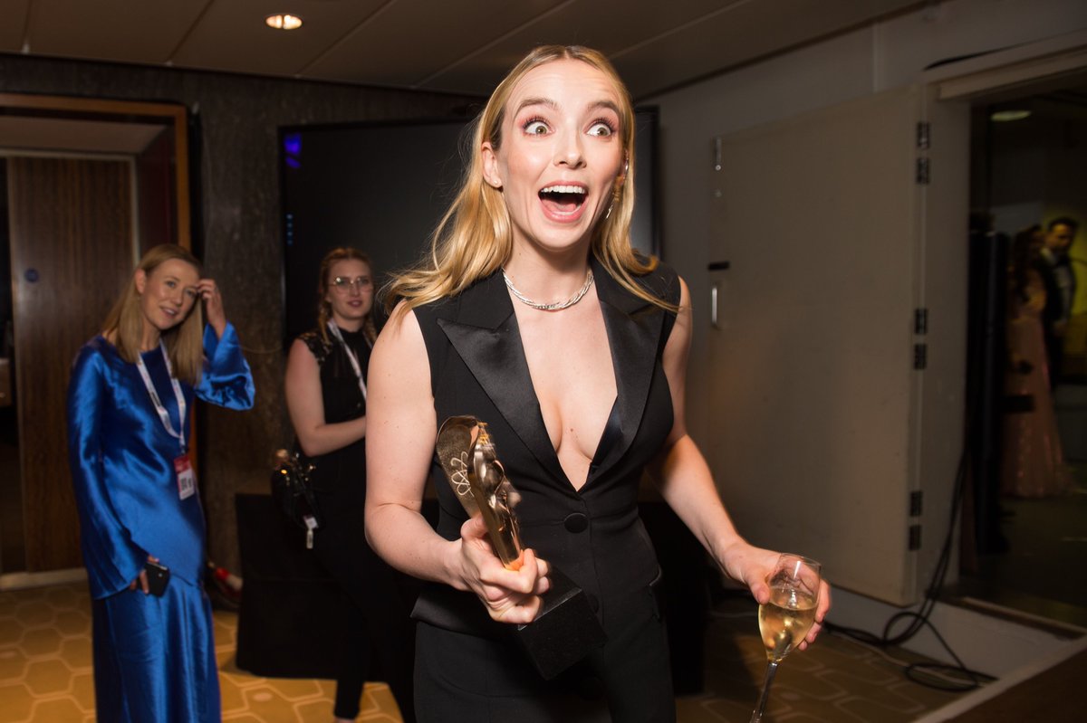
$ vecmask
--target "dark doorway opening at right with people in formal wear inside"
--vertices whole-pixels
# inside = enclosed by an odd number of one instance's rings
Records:
[[[973,495],[958,592],[1087,626],[1087,74],[974,99],[971,138]],[[1049,383],[1041,249],[1065,217],[1075,286]]]

